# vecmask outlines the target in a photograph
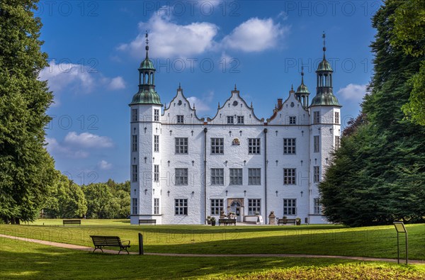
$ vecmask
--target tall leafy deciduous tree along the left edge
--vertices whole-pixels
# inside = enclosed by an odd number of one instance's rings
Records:
[[[54,177],[44,147],[52,93],[38,80],[47,66],[32,0],[0,1],[0,218],[34,220]]]

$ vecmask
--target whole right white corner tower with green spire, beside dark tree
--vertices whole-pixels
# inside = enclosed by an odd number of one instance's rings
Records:
[[[332,78],[334,70],[326,59],[326,35],[323,33],[323,59],[319,63],[316,96],[310,104],[310,209],[317,205],[318,184],[327,168],[331,152],[339,146],[341,135],[341,104],[334,96]]]

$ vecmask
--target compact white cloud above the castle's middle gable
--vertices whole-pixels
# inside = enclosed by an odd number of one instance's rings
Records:
[[[260,52],[278,45],[278,40],[289,32],[289,26],[274,23],[273,19],[249,18],[222,40],[224,47],[244,52]]]

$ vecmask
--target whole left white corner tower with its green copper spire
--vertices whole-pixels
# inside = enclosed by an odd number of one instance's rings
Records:
[[[159,174],[159,135],[161,133],[161,99],[155,91],[155,67],[149,60],[149,40],[146,33],[146,57],[140,63],[139,86],[130,106],[130,184],[131,223],[154,218],[154,174]],[[156,159],[155,159],[156,158]],[[159,198],[157,198],[159,199]],[[158,220],[158,218],[155,218]]]

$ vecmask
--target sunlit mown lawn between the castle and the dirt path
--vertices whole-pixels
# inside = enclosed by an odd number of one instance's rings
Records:
[[[59,225],[62,220],[39,220],[38,223],[45,225],[0,225],[0,233],[86,246],[92,246],[89,235],[118,235],[123,240],[131,240],[133,252],[137,252],[137,234],[142,233],[145,252],[397,257],[397,233],[392,225],[365,228],[341,225],[135,226],[128,225],[128,220],[83,220],[81,227],[64,228]],[[425,224],[407,225],[407,230],[409,258],[425,260]],[[401,237],[403,245],[404,236]]]

